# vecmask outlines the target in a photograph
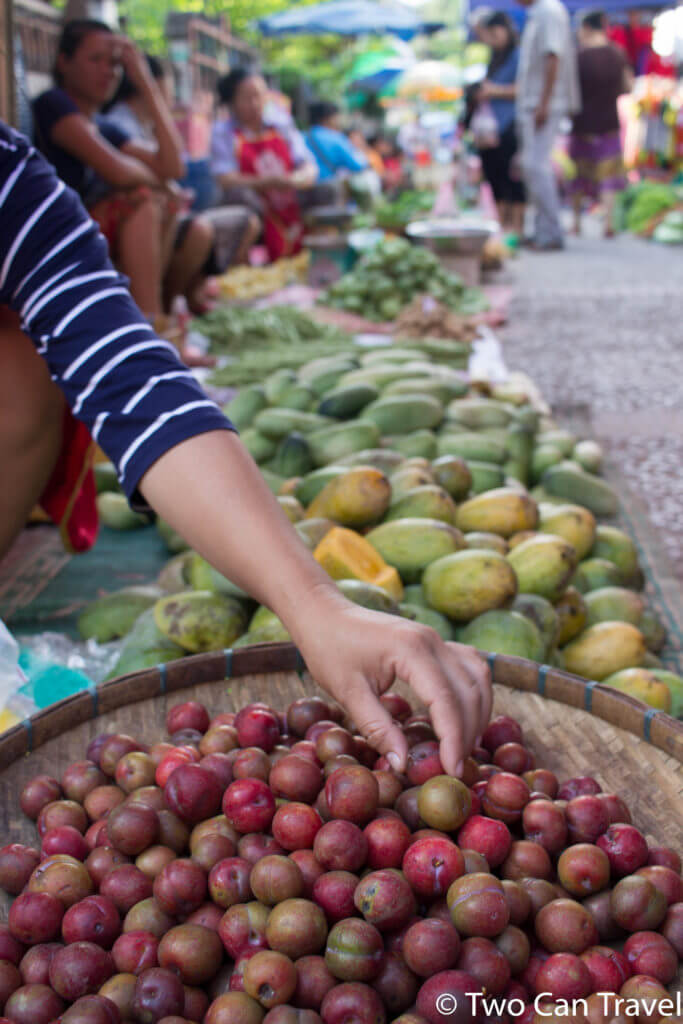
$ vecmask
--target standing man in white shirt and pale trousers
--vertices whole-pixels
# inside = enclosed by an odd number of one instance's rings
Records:
[[[551,163],[563,118],[581,106],[569,15],[560,0],[518,0],[528,9],[517,75],[522,174],[536,209],[532,248],[564,245],[560,201]]]

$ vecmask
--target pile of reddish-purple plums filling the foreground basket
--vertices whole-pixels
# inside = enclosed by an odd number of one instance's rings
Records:
[[[673,1013],[677,851],[595,778],[537,765],[514,719],[488,724],[460,780],[428,716],[381,699],[405,775],[308,696],[176,705],[166,739],[101,733],[60,780],[29,781],[39,849],[0,850],[3,1020],[510,1019],[485,997],[523,1024],[587,999],[582,1020],[604,1022],[617,993],[622,1020]]]

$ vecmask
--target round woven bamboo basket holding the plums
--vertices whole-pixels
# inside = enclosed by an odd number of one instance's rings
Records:
[[[683,722],[547,666],[504,655],[488,660],[495,714],[519,721],[540,766],[560,779],[594,775],[605,792],[626,799],[648,841],[683,851]],[[0,845],[35,843],[34,824],[18,806],[22,786],[40,773],[59,776],[99,732],[154,742],[165,736],[166,713],[179,700],[201,700],[216,714],[254,699],[284,709],[315,692],[297,649],[280,643],[198,654],[61,700],[0,737]],[[0,901],[2,918],[8,902]]]

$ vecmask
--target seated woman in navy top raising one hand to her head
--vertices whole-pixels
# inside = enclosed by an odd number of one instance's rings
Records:
[[[98,114],[120,66],[143,97],[147,138]],[[54,77],[34,101],[36,144],[99,224],[138,306],[160,316],[175,295],[191,298],[213,242],[198,218],[179,230],[185,203],[169,182],[184,166],[168,105],[142,54],[99,22],[65,26]]]

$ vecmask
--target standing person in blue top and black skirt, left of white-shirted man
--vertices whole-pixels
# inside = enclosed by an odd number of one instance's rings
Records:
[[[513,168],[517,153],[515,129],[515,85],[519,69],[519,41],[511,18],[502,11],[484,22],[492,50],[486,78],[479,86],[475,102],[488,102],[498,125],[496,145],[479,151],[483,175],[490,185],[499,220],[504,230],[520,236],[524,227],[524,184]]]

